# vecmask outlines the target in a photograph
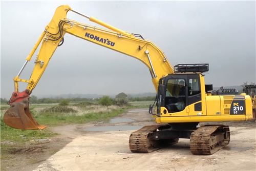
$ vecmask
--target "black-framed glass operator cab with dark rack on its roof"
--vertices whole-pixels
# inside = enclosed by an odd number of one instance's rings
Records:
[[[195,104],[195,111],[202,111],[200,78],[202,72],[209,70],[209,64],[179,64],[175,65],[174,69],[175,74],[169,74],[160,79],[157,114],[160,115],[161,107],[167,109],[164,111],[166,113],[177,113],[191,104]]]

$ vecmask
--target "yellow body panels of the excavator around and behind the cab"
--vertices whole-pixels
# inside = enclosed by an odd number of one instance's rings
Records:
[[[205,92],[205,83],[203,75],[200,76],[201,92]],[[173,86],[173,85],[167,85]],[[240,96],[239,96],[240,97]],[[195,111],[195,104],[185,107],[184,110],[175,113],[168,113],[165,107],[161,107],[160,116],[155,117],[156,123],[191,123],[191,122],[207,122],[207,121],[239,121],[251,120],[252,108],[250,107],[251,98],[249,95],[241,95],[245,101],[245,114],[230,114],[230,109],[237,104],[233,104],[238,98],[235,95],[210,95],[202,93],[202,111]],[[248,108],[249,106],[249,108]]]

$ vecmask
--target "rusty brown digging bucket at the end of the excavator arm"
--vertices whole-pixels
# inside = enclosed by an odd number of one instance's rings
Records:
[[[39,125],[32,116],[28,99],[12,103],[11,107],[5,112],[4,121],[8,126],[20,130],[41,130],[47,127]]]

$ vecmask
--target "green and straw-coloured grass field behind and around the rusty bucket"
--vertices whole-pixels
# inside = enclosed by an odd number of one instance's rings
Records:
[[[66,124],[84,124],[90,121],[111,118],[125,112],[129,108],[148,108],[154,102],[130,102],[130,106],[101,106],[97,104],[70,104],[68,107],[59,107],[58,104],[35,104],[30,105],[30,111],[40,125],[48,127]],[[1,105],[1,142],[24,143],[26,141],[48,138],[56,135],[44,130],[17,130],[4,123],[3,116],[9,109],[9,105]],[[2,146],[2,144],[1,144]],[[3,146],[2,146],[3,147]],[[1,148],[1,151],[3,148]]]

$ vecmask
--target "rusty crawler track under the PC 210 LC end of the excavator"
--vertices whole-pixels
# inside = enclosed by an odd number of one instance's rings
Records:
[[[192,154],[214,154],[229,143],[229,127],[224,125],[206,125],[190,136]]]

